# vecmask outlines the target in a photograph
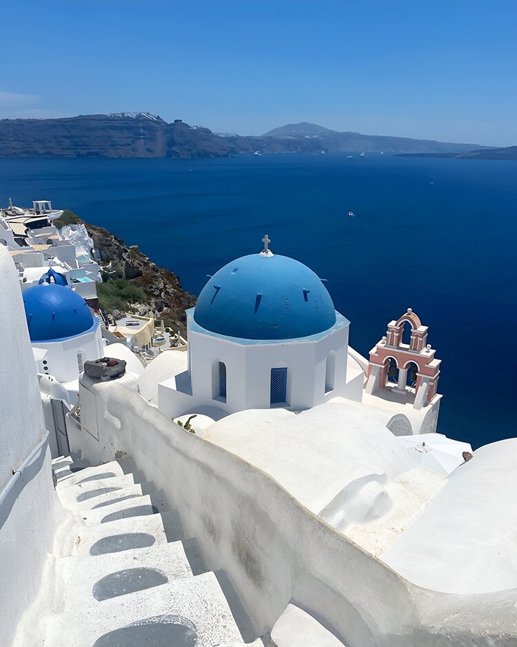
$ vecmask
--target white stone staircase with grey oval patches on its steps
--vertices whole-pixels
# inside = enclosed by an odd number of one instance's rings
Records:
[[[193,575],[182,542],[168,542],[163,502],[116,461],[89,467],[59,457],[52,466],[73,521],[57,540],[43,647],[245,644],[214,573]]]

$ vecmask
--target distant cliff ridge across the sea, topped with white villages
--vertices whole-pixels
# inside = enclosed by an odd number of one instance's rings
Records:
[[[338,132],[314,123],[275,128],[261,137],[216,133],[150,112],[63,119],[0,119],[1,157],[232,157],[265,153],[465,152],[476,144]]]

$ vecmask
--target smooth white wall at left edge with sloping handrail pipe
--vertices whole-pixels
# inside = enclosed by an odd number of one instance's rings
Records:
[[[18,275],[0,246],[0,490],[45,434],[39,386]],[[12,644],[23,612],[36,596],[52,550],[57,500],[45,444],[0,506],[0,644]]]

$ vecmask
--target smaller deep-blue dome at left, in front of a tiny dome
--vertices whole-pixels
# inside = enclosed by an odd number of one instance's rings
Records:
[[[95,327],[86,301],[70,288],[49,283],[23,292],[30,341],[74,337]]]

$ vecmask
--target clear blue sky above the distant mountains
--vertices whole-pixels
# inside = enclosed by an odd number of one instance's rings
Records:
[[[1,23],[0,117],[517,144],[517,0],[19,0]]]

